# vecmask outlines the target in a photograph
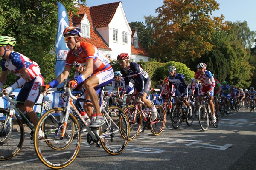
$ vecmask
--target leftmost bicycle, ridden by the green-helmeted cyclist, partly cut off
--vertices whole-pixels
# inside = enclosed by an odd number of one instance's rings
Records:
[[[0,161],[4,161],[11,159],[20,151],[25,139],[23,124],[26,124],[31,130],[31,140],[35,127],[32,122],[30,122],[26,112],[20,111],[16,106],[17,103],[23,104],[24,102],[15,101],[15,95],[4,97],[3,93],[0,92],[0,96],[10,102],[9,108],[0,108],[0,113],[2,113],[0,116]],[[44,110],[49,110],[48,102],[43,99],[41,103],[35,103],[35,105],[41,106],[40,116],[43,114]]]

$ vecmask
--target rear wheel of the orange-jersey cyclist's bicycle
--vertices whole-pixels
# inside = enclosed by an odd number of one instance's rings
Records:
[[[107,112],[104,115],[106,123],[99,127],[99,136],[102,136],[100,143],[107,153],[118,155],[125,150],[129,141],[129,121],[121,108],[111,106]]]

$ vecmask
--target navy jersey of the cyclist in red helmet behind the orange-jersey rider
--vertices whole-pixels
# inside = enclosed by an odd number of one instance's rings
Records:
[[[129,82],[134,82],[137,91],[144,90],[144,81],[149,79],[148,73],[144,71],[136,62],[130,62],[128,71],[121,69],[121,73],[125,79],[125,91],[129,88]]]

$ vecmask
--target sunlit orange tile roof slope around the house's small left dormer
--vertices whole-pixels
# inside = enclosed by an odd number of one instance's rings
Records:
[[[89,20],[89,23],[91,25],[90,26],[90,38],[82,37],[81,40],[84,41],[84,42],[88,42],[90,44],[93,44],[97,48],[111,50],[111,48],[109,48],[108,45],[102,40],[102,38],[98,34],[98,32],[93,28],[93,22],[92,22],[92,18],[91,18],[91,15],[90,15],[89,7],[88,6],[82,6],[82,5],[79,5],[79,7],[80,8],[78,8],[79,11],[77,13],[79,16],[73,16],[72,14],[70,16],[72,18],[72,20],[70,20],[70,26],[73,26],[73,23],[74,24],[81,23],[81,20],[83,19],[84,15],[86,14],[87,18]],[[72,21],[73,21],[73,23],[72,23]]]

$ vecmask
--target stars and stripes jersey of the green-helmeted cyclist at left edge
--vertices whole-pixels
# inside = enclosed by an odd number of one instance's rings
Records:
[[[3,58],[0,65],[2,71],[9,70],[19,77],[22,77],[22,74],[20,74],[19,70],[23,67],[26,67],[26,70],[28,71],[30,76],[30,79],[28,81],[31,81],[32,79],[41,74],[40,68],[36,62],[33,62],[28,57],[15,51],[11,51],[8,61]]]

